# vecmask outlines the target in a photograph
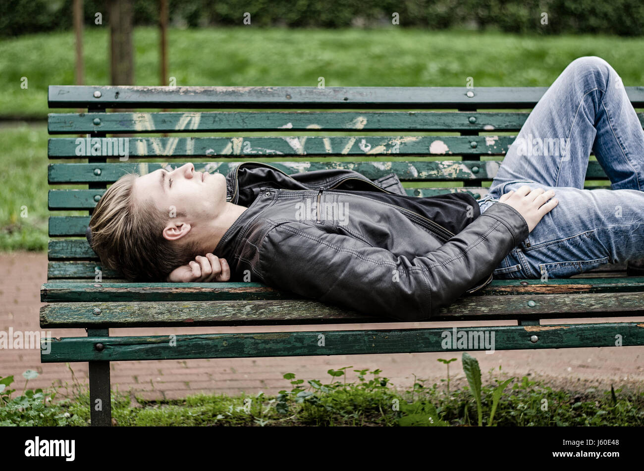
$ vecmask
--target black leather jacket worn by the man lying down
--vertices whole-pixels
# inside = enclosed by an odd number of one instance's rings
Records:
[[[247,210],[214,250],[231,281],[397,320],[426,320],[492,272],[528,236],[525,219],[495,203],[480,214],[467,193],[407,196],[395,174],[346,169],[288,175],[243,162],[227,200]]]

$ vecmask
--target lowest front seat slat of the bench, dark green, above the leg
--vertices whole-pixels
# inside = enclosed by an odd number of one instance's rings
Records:
[[[455,336],[450,342],[448,335]],[[41,362],[181,360],[274,356],[368,355],[644,345],[644,324],[564,324],[477,328],[317,330],[147,337],[70,337],[44,340]],[[487,337],[486,337],[487,336]],[[533,336],[536,336],[533,337]],[[324,339],[321,344],[320,339]],[[460,344],[459,338],[462,338]],[[532,342],[531,338],[536,340]],[[494,340],[492,340],[494,339]],[[487,347],[486,347],[487,340]],[[100,344],[100,346],[98,346]],[[446,349],[445,347],[450,347]]]

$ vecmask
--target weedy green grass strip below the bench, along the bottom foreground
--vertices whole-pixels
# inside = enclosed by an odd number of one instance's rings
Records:
[[[500,368],[499,368],[500,370]],[[355,373],[354,373],[355,372]],[[33,374],[34,372],[32,372]],[[426,386],[417,379],[413,389],[399,391],[379,369],[352,366],[329,370],[328,383],[298,380],[284,374],[285,389],[277,396],[264,393],[238,396],[196,394],[180,400],[131,400],[112,393],[112,417],[119,426],[475,426],[477,405],[468,386],[451,389],[441,380]],[[350,374],[355,381],[347,382]],[[75,376],[73,376],[75,378]],[[496,383],[509,380],[500,395],[493,421]],[[90,421],[90,397],[77,381],[70,386],[14,396],[13,377],[0,379],[0,426],[85,426]],[[289,385],[290,383],[290,385]],[[26,387],[26,385],[24,386]],[[52,400],[50,400],[52,398]],[[55,400],[53,400],[55,399]],[[553,389],[528,376],[493,375],[481,388],[483,425],[503,427],[639,426],[644,425],[644,393],[622,389],[568,391]]]

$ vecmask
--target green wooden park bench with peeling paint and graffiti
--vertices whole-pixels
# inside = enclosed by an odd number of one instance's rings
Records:
[[[52,239],[48,280],[41,290],[47,303],[41,309],[41,328],[85,328],[87,337],[54,338],[50,353],[43,349],[42,362],[89,362],[91,424],[110,425],[109,362],[443,351],[446,328],[432,328],[431,322],[378,329],[379,323],[392,320],[259,283],[123,282],[118,273],[103,270],[90,249],[85,238],[90,216],[56,214],[91,214],[106,185],[122,174],[185,162],[193,162],[196,171],[223,174],[243,160],[268,161],[288,174],[340,167],[375,180],[395,172],[412,196],[468,191],[481,198],[485,182],[489,185],[514,140],[512,134],[545,90],[50,86],[50,108],[76,112],[49,115],[49,133],[67,136],[49,140],[53,162],[48,181],[86,188],[49,192]],[[634,106],[644,106],[643,88],[627,88],[627,93]],[[87,112],[77,113],[79,108]],[[155,112],[137,111],[150,109]],[[644,122],[643,114],[639,118]],[[83,154],[76,140],[88,134],[126,138],[128,160],[115,151],[112,156]],[[442,144],[432,145],[437,141]],[[588,188],[601,187],[602,181],[609,186],[594,158],[587,179],[601,180]],[[547,319],[644,315],[643,289],[644,277],[625,277],[624,265],[605,265],[569,279],[498,279],[442,309],[432,321],[516,320],[516,326],[472,327],[463,322],[459,327],[473,338],[492,329],[495,349],[644,345],[642,323],[540,324]],[[371,323],[373,328],[289,328],[352,323]],[[254,331],[267,325],[281,325],[283,331]],[[194,326],[212,327],[213,333],[176,335],[175,346],[168,335],[109,336],[110,328]],[[216,333],[219,326],[243,326],[248,333]],[[324,347],[318,346],[320,334],[325,335]]]

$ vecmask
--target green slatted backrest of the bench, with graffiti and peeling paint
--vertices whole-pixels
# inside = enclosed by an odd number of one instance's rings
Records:
[[[227,174],[254,160],[289,174],[346,168],[372,180],[395,172],[410,195],[468,191],[480,198],[546,89],[50,86],[50,108],[88,111],[48,119],[50,134],[68,134],[49,140],[56,162],[48,181],[75,185],[49,192],[48,279],[88,281],[99,271],[118,279],[102,270],[84,238],[90,216],[68,212],[91,214],[121,175],[167,164]],[[644,88],[626,90],[634,107],[644,106]],[[638,116],[644,123],[644,113]],[[604,181],[587,187],[607,186],[606,178],[590,162],[587,179]]]

